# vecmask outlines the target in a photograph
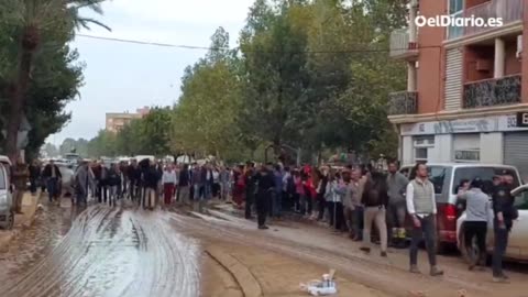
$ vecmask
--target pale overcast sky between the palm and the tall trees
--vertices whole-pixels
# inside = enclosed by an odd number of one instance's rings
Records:
[[[96,16],[111,32],[92,26],[86,35],[138,40],[177,45],[209,46],[210,37],[223,26],[237,46],[254,0],[110,0],[105,14]],[[91,16],[89,12],[84,15]],[[187,65],[206,54],[187,50],[138,45],[76,36],[73,46],[86,64],[80,98],[67,106],[72,121],[48,142],[91,139],[105,128],[106,112],[135,112],[144,106],[172,106],[180,94]]]

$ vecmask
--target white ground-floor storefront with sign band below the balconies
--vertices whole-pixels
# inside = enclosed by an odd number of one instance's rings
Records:
[[[528,114],[528,113],[527,113]],[[525,118],[526,119],[526,118]],[[402,161],[516,166],[528,182],[528,119],[518,114],[404,124]]]

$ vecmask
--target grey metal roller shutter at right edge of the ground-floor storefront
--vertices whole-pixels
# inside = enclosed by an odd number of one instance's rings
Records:
[[[504,164],[517,167],[528,182],[528,132],[504,134]]]

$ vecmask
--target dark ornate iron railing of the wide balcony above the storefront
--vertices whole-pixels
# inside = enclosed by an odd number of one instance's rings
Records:
[[[485,79],[464,85],[463,108],[482,108],[520,102],[520,75]]]

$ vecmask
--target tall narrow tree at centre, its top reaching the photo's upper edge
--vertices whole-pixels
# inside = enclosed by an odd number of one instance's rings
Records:
[[[307,10],[297,2],[274,9],[257,1],[241,37],[245,66],[241,121],[272,143],[276,156],[285,140],[300,141],[316,108],[306,92],[310,84],[307,34],[295,22],[306,20]]]

